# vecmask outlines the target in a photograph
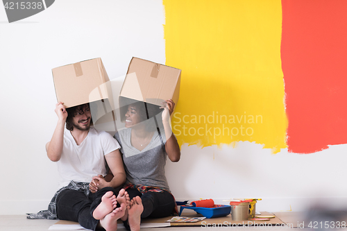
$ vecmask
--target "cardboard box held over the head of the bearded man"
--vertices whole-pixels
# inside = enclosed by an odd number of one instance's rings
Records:
[[[115,115],[108,113],[115,108],[110,80],[101,58],[56,67],[52,73],[58,102],[63,102],[66,108],[90,103],[94,126],[101,122],[98,121],[101,117],[103,122],[115,120]]]

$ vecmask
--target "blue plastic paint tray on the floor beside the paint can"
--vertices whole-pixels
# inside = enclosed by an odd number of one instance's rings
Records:
[[[213,218],[219,216],[228,216],[231,212],[230,205],[214,205],[213,207],[193,207],[193,206],[180,206],[180,214],[183,209],[193,209],[198,214],[205,216],[206,218]]]

